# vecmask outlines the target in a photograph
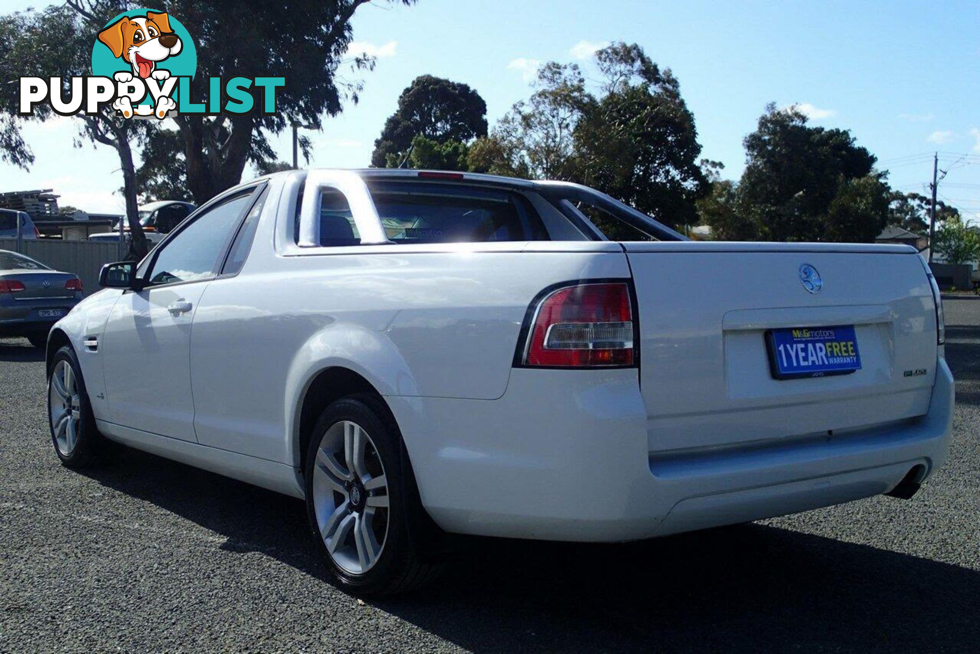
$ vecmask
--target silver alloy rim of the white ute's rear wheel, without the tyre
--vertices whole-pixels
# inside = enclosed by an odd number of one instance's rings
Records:
[[[313,503],[333,562],[352,575],[373,568],[388,535],[388,482],[374,442],[357,423],[335,423],[320,439]]]

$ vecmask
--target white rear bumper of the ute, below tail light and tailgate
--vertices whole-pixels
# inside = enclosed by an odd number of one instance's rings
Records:
[[[620,541],[759,520],[885,493],[946,460],[954,380],[928,413],[832,436],[650,452],[635,370],[515,369],[499,400],[386,398],[422,503],[448,531]]]

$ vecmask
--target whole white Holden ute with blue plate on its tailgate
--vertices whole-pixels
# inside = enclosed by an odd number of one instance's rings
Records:
[[[947,456],[942,308],[907,246],[692,242],[564,182],[288,172],[102,283],[47,348],[62,461],[105,437],[304,498],[356,592],[424,579],[444,532],[648,538],[909,497]]]

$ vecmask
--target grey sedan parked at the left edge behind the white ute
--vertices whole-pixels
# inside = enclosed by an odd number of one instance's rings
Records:
[[[17,252],[0,250],[0,336],[44,347],[51,326],[81,300],[81,279]]]

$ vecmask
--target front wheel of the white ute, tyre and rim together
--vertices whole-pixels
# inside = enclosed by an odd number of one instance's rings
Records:
[[[95,428],[81,367],[69,345],[58,350],[48,370],[48,426],[64,465],[80,468],[92,462],[102,436]]]

